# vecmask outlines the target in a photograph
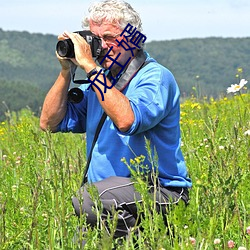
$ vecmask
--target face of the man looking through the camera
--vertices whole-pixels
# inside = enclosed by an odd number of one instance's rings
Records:
[[[99,62],[101,62],[103,57],[107,54],[110,47],[113,46],[113,49],[109,53],[109,56],[111,58],[116,58],[116,56],[121,53],[116,61],[122,65],[126,63],[128,58],[131,56],[131,53],[129,51],[126,51],[122,46],[118,47],[117,42],[115,40],[117,39],[118,41],[121,41],[123,39],[123,36],[120,37],[122,30],[118,28],[117,25],[105,21],[101,25],[98,25],[90,20],[90,30],[93,34],[102,39],[103,52],[102,55],[98,58]],[[102,67],[107,69],[112,63],[112,60],[106,58],[102,63]],[[117,64],[113,64],[111,71],[119,71],[119,66]]]

